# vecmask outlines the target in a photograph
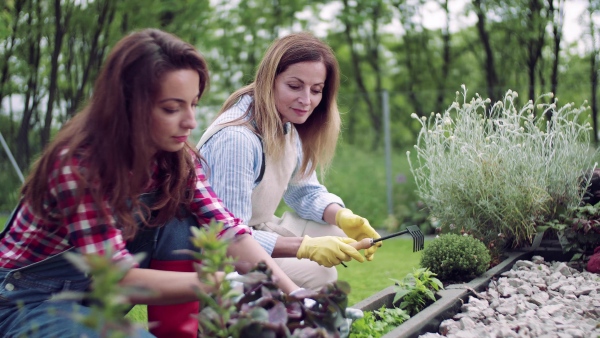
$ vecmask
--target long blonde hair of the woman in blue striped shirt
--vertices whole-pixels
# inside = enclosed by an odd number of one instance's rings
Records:
[[[283,156],[283,122],[275,106],[275,78],[289,66],[300,62],[322,62],[327,71],[323,96],[319,105],[303,124],[295,125],[302,140],[303,161],[299,174],[310,175],[317,166],[325,172],[333,155],[340,133],[340,113],[337,93],[340,70],[331,48],[308,32],[294,33],[275,40],[267,49],[254,82],[237,90],[223,104],[219,115],[231,108],[244,95],[253,97],[246,114],[235,123],[246,124],[262,137],[265,154]],[[246,117],[250,117],[246,119]],[[254,125],[248,121],[254,120]],[[245,121],[245,122],[244,122]]]

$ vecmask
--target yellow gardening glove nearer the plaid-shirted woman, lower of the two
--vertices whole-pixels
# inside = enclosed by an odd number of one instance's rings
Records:
[[[350,243],[356,243],[352,238],[323,236],[309,237],[304,236],[296,257],[298,259],[308,258],[325,267],[332,267],[340,264],[342,261],[348,262],[352,258],[359,262],[364,262],[365,258],[350,246]]]

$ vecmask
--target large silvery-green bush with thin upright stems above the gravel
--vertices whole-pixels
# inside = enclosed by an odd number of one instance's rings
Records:
[[[467,101],[462,88],[443,114],[413,114],[421,123],[410,163],[418,193],[442,225],[520,246],[536,222],[582,199],[589,180],[582,174],[594,166],[590,124],[579,122],[587,107],[528,101],[517,108],[510,90],[490,107],[479,94]]]

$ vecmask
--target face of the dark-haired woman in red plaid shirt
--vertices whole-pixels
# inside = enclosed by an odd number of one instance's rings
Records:
[[[183,148],[196,128],[196,105],[200,76],[195,70],[180,69],[166,73],[150,120],[150,133],[156,151],[175,152]]]

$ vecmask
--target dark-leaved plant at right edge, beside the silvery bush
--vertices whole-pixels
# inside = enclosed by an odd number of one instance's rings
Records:
[[[572,260],[590,254],[600,243],[600,204],[586,204],[547,222],[556,230],[563,252],[574,252]]]

